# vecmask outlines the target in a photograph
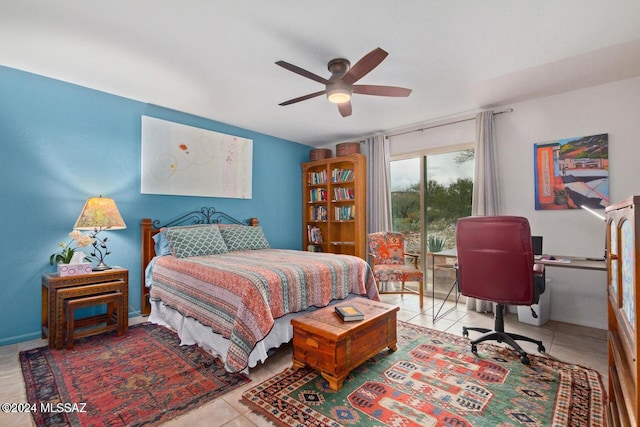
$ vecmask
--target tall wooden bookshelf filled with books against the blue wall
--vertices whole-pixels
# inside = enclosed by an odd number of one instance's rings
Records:
[[[302,163],[304,248],[367,258],[367,158]]]

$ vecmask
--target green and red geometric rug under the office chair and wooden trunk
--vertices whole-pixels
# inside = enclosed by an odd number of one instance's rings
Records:
[[[280,426],[605,426],[598,372],[398,322],[378,353],[333,391],[314,370],[286,369],[243,394]]]

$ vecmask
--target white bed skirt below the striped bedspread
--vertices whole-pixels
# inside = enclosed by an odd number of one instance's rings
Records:
[[[346,301],[348,299],[358,297],[349,294],[344,300],[333,300],[329,305]],[[203,325],[192,317],[182,315],[177,310],[165,305],[162,301],[151,300],[151,314],[149,322],[157,325],[165,326],[176,331],[180,337],[180,345],[198,344],[200,347],[211,352],[216,357],[225,360],[229,349],[229,340],[220,334],[212,332],[211,328]],[[293,338],[293,328],[291,327],[291,319],[294,317],[305,315],[311,311],[317,310],[312,307],[307,311],[298,313],[290,313],[275,320],[275,324],[271,332],[260,341],[253,351],[249,354],[249,366],[242,372],[248,373],[249,368],[255,367],[258,363],[264,363],[269,357],[269,350],[278,348],[282,344],[291,341]]]

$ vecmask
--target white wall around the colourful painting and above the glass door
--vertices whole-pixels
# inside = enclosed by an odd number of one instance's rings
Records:
[[[604,222],[582,210],[536,211],[533,146],[563,138],[609,134],[611,202],[640,194],[640,78],[519,104],[496,116],[501,209],[529,219],[550,254],[602,256]],[[416,126],[420,127],[420,126]],[[390,138],[392,155],[472,141],[475,122]],[[550,267],[552,320],[606,328],[606,273]]]

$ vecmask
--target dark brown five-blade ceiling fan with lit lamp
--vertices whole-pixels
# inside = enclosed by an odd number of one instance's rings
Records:
[[[304,95],[298,98],[293,98],[288,101],[282,102],[279,105],[295,104],[296,102],[305,101],[307,99],[315,98],[320,95],[327,95],[330,102],[338,105],[338,110],[342,117],[351,115],[351,95],[354,93],[360,95],[377,95],[377,96],[394,96],[405,97],[409,96],[411,89],[397,87],[397,86],[377,86],[377,85],[357,85],[354,84],[362,77],[367,75],[371,70],[376,68],[384,59],[389,55],[383,49],[379,47],[367,53],[358,62],[351,67],[351,63],[348,59],[336,58],[329,61],[327,68],[331,71],[331,77],[325,79],[310,71],[297,67],[293,64],[289,64],[285,61],[276,62],[277,65],[282,68],[286,68],[296,74],[300,74],[303,77],[307,77],[311,80],[315,80],[318,83],[325,85],[325,89]]]

